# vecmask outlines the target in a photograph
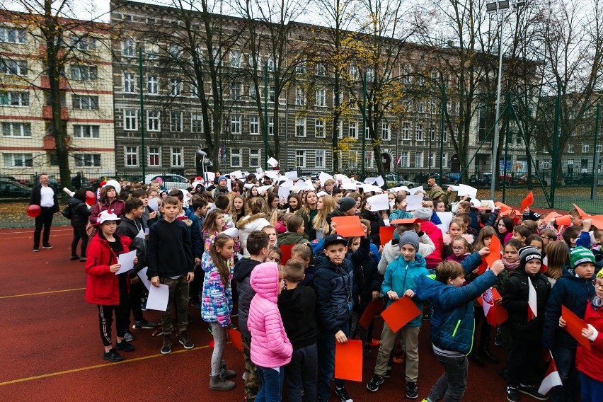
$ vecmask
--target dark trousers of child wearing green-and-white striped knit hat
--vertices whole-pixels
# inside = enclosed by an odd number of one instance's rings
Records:
[[[551,389],[551,402],[575,402],[580,394],[580,373],[575,367],[576,348],[556,345],[553,358],[563,386]]]

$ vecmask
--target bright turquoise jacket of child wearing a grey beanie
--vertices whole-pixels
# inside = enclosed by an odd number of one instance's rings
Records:
[[[418,278],[425,275],[429,275],[429,271],[425,268],[425,258],[422,255],[415,254],[415,259],[411,261],[406,261],[400,257],[387,265],[384,280],[381,283],[381,292],[387,294],[387,292],[393,290],[398,294],[398,297],[403,297],[404,292],[408,289],[414,291]],[[394,300],[388,298],[387,306],[393,302]],[[413,297],[413,302],[420,311],[423,311],[423,301]],[[406,326],[411,328],[421,326],[421,318],[420,315],[413,318]]]

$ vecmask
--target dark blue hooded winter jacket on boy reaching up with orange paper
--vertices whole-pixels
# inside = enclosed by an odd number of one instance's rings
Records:
[[[461,262],[467,275],[481,263],[478,253]],[[477,265],[476,265],[477,264]],[[416,297],[430,300],[433,313],[430,318],[430,339],[437,348],[469,355],[473,348],[473,299],[494,285],[496,275],[488,270],[469,285],[455,287],[435,280],[433,275],[418,278]]]

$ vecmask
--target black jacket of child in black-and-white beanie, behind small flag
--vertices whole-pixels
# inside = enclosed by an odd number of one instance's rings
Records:
[[[531,281],[536,290],[536,318],[527,321],[529,285]],[[551,282],[540,272],[534,276],[517,268],[505,285],[503,306],[509,313],[509,327],[513,338],[522,340],[541,340],[546,304],[551,294]]]

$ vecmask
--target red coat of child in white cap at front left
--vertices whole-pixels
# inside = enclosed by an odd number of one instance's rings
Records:
[[[120,285],[117,275],[110,272],[110,265],[117,264],[117,255],[109,246],[109,242],[97,233],[88,244],[86,251],[86,302],[103,306],[120,304]],[[130,251],[130,239],[127,236],[113,235],[122,243],[124,253]],[[126,275],[127,283],[130,278]]]

